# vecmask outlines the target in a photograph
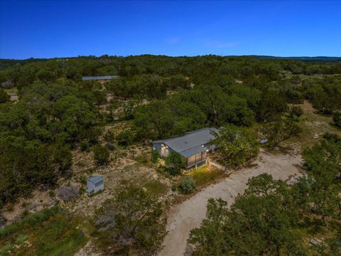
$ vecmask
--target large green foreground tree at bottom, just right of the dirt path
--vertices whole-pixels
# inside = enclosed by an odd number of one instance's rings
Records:
[[[288,185],[262,175],[249,186],[231,208],[222,199],[209,200],[206,218],[190,233],[193,255],[305,255],[293,229],[298,210]]]

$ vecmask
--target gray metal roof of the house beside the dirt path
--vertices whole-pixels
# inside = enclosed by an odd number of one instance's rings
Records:
[[[209,143],[215,136],[212,132],[218,132],[215,128],[203,128],[194,132],[188,132],[181,137],[173,137],[169,139],[159,139],[153,143],[163,143],[171,147],[174,151],[177,151],[182,156],[188,157],[194,154],[212,149],[212,146],[202,146]]]

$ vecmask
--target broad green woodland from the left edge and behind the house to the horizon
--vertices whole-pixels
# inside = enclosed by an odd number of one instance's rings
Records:
[[[287,78],[288,73],[335,75],[303,80]],[[131,130],[119,134],[121,144],[228,124],[294,127],[295,119],[287,117],[300,110],[288,104],[304,99],[320,112],[336,113],[338,123],[339,73],[340,63],[216,55],[103,55],[16,63],[0,71],[1,203],[70,175],[70,150],[97,144],[99,123],[114,121],[117,113],[133,119]],[[102,85],[82,81],[83,75],[119,78]],[[18,102],[9,102],[9,87],[18,89]],[[99,112],[108,95],[112,100]]]

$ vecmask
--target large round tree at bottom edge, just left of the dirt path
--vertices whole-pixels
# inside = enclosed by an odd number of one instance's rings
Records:
[[[96,241],[107,255],[153,255],[167,233],[163,204],[136,187],[106,201],[94,224]]]

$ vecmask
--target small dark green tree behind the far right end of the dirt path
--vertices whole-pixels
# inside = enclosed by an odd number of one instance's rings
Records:
[[[301,131],[301,127],[293,119],[287,117],[278,117],[276,121],[266,124],[263,129],[271,148],[275,148],[286,139],[297,136]]]

